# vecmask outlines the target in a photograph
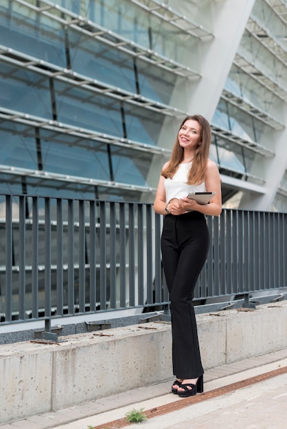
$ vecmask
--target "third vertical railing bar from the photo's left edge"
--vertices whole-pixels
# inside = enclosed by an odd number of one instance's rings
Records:
[[[32,317],[38,318],[38,197],[32,197]]]

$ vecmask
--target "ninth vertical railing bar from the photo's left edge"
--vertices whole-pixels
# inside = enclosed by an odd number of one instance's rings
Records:
[[[100,202],[100,309],[106,310],[106,203]]]

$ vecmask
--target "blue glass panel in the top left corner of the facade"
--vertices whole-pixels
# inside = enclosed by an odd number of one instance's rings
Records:
[[[63,26],[30,8],[12,3],[0,13],[0,40],[5,46],[65,67],[65,40]],[[1,9],[0,9],[1,10]]]

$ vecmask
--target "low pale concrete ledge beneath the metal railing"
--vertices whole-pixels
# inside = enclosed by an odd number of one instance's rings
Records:
[[[197,315],[205,369],[287,347],[287,302]],[[170,323],[0,345],[0,423],[170,380]]]

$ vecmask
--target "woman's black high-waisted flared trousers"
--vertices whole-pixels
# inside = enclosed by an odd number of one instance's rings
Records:
[[[200,212],[164,217],[161,253],[170,292],[172,365],[177,378],[197,378],[204,372],[192,299],[208,249],[209,231]]]

